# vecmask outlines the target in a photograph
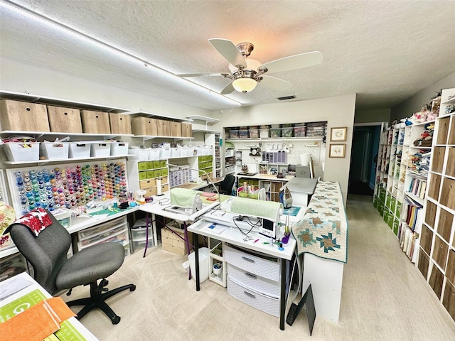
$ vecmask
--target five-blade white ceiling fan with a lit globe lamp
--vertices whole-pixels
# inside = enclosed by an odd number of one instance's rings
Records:
[[[262,64],[259,60],[247,58],[255,48],[252,43],[240,43],[236,46],[232,41],[223,38],[211,38],[208,42],[225,60],[228,60],[230,73],[188,73],[178,76],[223,76],[232,80],[220,94],[230,94],[235,90],[243,93],[250,92],[255,89],[259,82],[274,90],[287,90],[292,86],[290,82],[269,76],[269,74],[311,67],[322,63],[321,53],[319,51],[313,51],[299,55],[289,55],[288,57]],[[267,75],[265,75],[266,73]]]

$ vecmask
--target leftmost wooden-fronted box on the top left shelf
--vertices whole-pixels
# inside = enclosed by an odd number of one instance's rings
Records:
[[[48,110],[45,104],[0,101],[1,130],[50,131]]]

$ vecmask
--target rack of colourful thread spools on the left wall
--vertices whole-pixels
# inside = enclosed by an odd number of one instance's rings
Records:
[[[14,168],[6,170],[6,175],[10,202],[18,217],[36,207],[51,211],[60,207],[75,209],[128,191],[124,159]]]

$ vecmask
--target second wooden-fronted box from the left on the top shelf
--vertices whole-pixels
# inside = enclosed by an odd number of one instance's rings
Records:
[[[82,133],[80,110],[48,105],[50,131]]]

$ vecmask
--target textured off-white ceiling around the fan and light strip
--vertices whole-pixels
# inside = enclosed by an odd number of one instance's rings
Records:
[[[2,3],[7,1],[1,0]],[[141,1],[14,0],[92,38],[168,72],[226,72],[208,43],[227,38],[253,43],[266,63],[319,50],[316,67],[279,72],[291,90],[260,83],[228,97],[243,105],[357,93],[361,109],[390,108],[455,71],[455,1]],[[87,40],[0,6],[0,57],[50,67],[205,109],[230,107],[153,67],[94,48]],[[193,82],[220,92],[223,77]],[[8,90],[8,89],[3,89]]]

